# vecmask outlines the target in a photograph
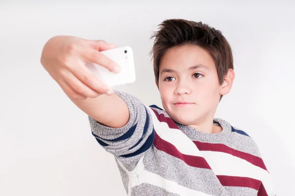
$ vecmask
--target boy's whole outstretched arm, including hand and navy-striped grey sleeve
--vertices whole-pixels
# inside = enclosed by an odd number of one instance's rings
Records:
[[[56,36],[45,44],[41,64],[65,94],[89,115],[97,142],[130,169],[153,143],[151,114],[137,98],[118,91],[114,94],[85,65],[90,62],[115,71],[115,63],[99,52],[114,47],[105,41]]]

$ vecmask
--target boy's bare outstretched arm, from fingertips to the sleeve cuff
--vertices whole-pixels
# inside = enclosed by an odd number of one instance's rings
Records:
[[[86,62],[96,63],[115,72],[118,65],[100,53],[114,47],[114,44],[102,40],[55,36],[45,44],[41,64],[86,114],[106,126],[119,128],[129,119],[125,101],[114,95],[113,90],[96,78],[85,65]],[[106,95],[108,92],[110,96]]]

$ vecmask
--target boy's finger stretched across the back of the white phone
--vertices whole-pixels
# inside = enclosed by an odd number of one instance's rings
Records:
[[[114,61],[110,60],[104,54],[98,52],[97,50],[94,50],[93,48],[83,47],[81,51],[81,56],[84,59],[84,61],[102,65],[115,73],[118,73],[120,70],[119,65],[117,65]]]

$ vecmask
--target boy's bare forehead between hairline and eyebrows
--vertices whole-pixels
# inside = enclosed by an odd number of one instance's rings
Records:
[[[200,66],[198,66],[200,65]],[[215,67],[210,54],[198,46],[178,46],[168,49],[160,61],[161,69],[187,70],[200,68],[210,70]]]

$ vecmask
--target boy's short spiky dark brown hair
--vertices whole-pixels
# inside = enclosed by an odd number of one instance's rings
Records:
[[[164,53],[174,46],[197,45],[205,49],[215,63],[220,85],[223,83],[228,69],[234,69],[231,46],[219,30],[215,30],[202,22],[184,19],[164,20],[158,26],[159,30],[150,37],[155,37],[150,54],[153,58],[157,84],[159,82],[160,60]],[[220,100],[222,97],[221,95]]]

